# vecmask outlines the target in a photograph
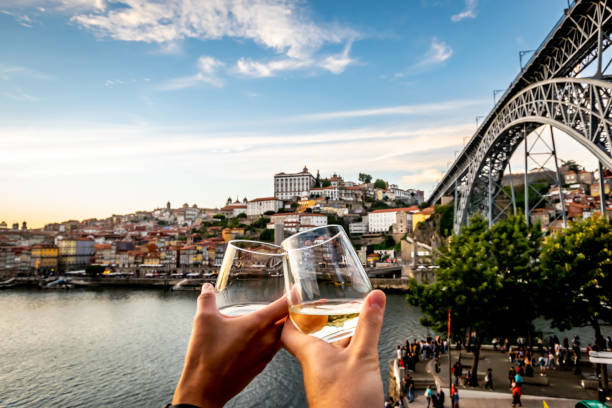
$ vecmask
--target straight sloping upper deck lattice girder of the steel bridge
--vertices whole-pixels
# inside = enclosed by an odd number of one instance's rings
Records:
[[[465,178],[482,138],[499,111],[514,96],[536,82],[575,77],[599,56],[600,27],[604,51],[612,44],[612,0],[577,0],[567,10],[434,188],[427,200],[430,204],[452,192],[455,182]]]

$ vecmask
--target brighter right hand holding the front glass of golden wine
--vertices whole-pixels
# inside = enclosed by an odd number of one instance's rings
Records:
[[[371,292],[362,306],[355,335],[333,344],[300,333],[287,319],[281,341],[302,366],[310,408],[383,406],[378,338],[384,312],[385,294]]]

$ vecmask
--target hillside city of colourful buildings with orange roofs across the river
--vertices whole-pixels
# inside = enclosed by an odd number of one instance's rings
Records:
[[[533,190],[530,206],[536,208],[530,221],[540,223],[543,230],[562,227],[561,197],[570,220],[588,218],[600,208],[599,182],[593,172],[574,162],[559,170],[561,191],[554,171],[539,168],[528,174]],[[522,208],[524,179],[524,174],[506,175],[507,194],[497,204],[508,208],[513,190],[516,206]],[[604,186],[608,194],[609,172],[604,173]],[[25,221],[10,227],[1,221],[0,276],[46,277],[86,270],[136,277],[210,276],[232,239],[278,244],[305,229],[340,224],[364,265],[399,264],[402,276],[414,277],[415,270],[433,269],[432,249],[452,230],[453,197],[445,197],[441,206],[428,207],[423,191],[401,189],[365,173],[353,182],[335,173],[321,178],[318,171],[313,175],[304,167],[297,173],[275,174],[273,187],[273,196],[230,197],[220,208],[196,204],[172,208],[168,202],[152,211],[69,220],[42,229],[28,229]],[[610,203],[606,208],[612,212]]]

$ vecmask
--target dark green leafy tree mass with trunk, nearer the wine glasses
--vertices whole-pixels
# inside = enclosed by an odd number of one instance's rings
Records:
[[[489,229],[475,216],[440,249],[436,281],[412,280],[407,300],[423,311],[421,322],[439,332],[447,330],[450,310],[455,338],[474,346],[477,361],[484,339],[533,333],[536,300],[543,300],[537,296],[541,240],[539,227],[528,227],[521,217]],[[472,385],[477,368],[476,363]]]

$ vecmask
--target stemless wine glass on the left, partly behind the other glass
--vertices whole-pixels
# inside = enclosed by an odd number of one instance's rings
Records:
[[[278,245],[248,240],[228,242],[217,277],[219,311],[238,316],[259,310],[283,296],[285,251]]]

